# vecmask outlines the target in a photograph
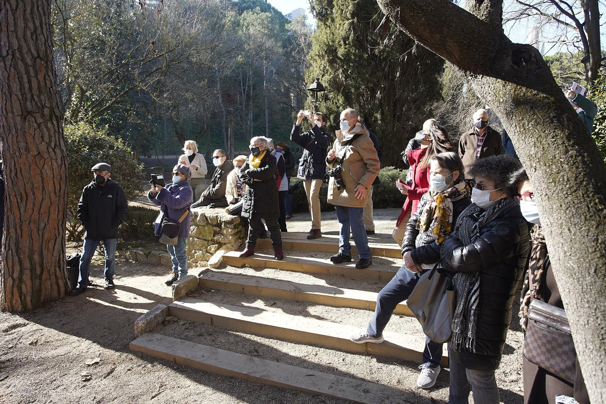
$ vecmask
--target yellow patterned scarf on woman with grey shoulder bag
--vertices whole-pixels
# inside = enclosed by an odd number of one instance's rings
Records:
[[[464,181],[442,193],[429,191],[433,202],[425,204],[416,228],[427,230],[429,227],[431,234],[441,243],[453,230],[453,200],[470,197],[470,194],[471,189]]]

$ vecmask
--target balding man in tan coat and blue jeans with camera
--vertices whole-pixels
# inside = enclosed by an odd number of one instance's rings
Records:
[[[368,130],[359,122],[356,110],[348,108],[343,111],[340,126],[341,130],[336,131],[335,144],[326,157],[326,163],[331,168],[328,203],[335,205],[339,222],[339,253],[331,256],[330,260],[333,263],[351,261],[351,230],[360,256],[356,268],[368,268],[372,260],[364,230],[363,210],[368,188],[379,175],[381,163]]]

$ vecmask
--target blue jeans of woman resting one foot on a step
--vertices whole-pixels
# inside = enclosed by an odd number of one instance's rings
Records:
[[[368,328],[366,329],[371,337],[376,338],[383,333],[396,306],[398,303],[408,299],[417,282],[419,282],[419,276],[402,266],[398,270],[398,273],[396,273],[396,276],[391,278],[389,283],[379,292],[375,317],[373,317],[373,320],[368,324]],[[440,359],[442,359],[442,345],[444,344],[433,342],[429,337],[425,337],[425,349],[423,351],[425,366],[429,366],[430,368],[437,368],[439,366]]]

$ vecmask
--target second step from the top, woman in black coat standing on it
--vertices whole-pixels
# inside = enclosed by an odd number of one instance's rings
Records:
[[[355,279],[379,280],[385,283],[389,282],[400,268],[395,264],[375,263],[368,268],[358,269],[355,262],[335,264],[324,258],[288,255],[285,255],[283,260],[276,260],[273,255],[259,253],[248,258],[240,258],[240,253],[241,251],[225,253],[223,263],[239,268],[248,265],[249,267],[276,268],[286,271],[343,275]]]

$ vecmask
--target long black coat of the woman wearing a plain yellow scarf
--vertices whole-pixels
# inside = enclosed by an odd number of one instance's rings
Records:
[[[272,156],[267,150],[259,168],[251,168],[248,159],[250,156],[240,169],[240,179],[247,185],[241,215],[249,219],[280,216],[276,156]]]

